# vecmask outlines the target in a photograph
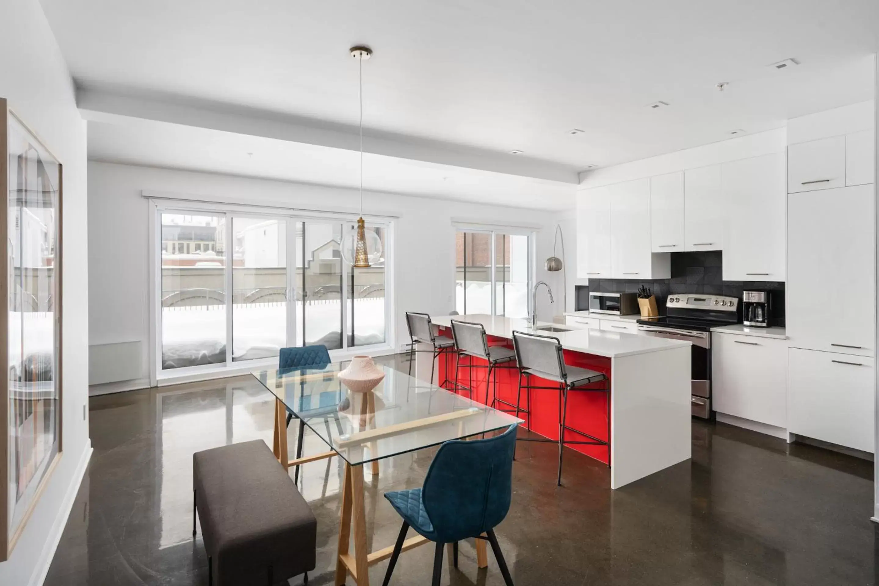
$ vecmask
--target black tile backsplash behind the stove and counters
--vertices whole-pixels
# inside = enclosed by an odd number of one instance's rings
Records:
[[[648,286],[657,297],[660,314],[665,314],[665,298],[676,293],[706,293],[742,299],[746,289],[767,289],[773,294],[771,325],[784,326],[784,283],[774,281],[724,281],[723,252],[672,252],[672,279],[639,281],[634,279],[589,279],[589,286],[575,287],[575,309],[588,309],[589,291],[637,293]]]

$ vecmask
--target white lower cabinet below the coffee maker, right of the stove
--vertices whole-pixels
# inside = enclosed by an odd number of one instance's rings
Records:
[[[711,399],[719,413],[788,426],[788,341],[711,335]]]

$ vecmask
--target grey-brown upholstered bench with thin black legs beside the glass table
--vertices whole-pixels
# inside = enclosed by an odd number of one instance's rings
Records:
[[[207,581],[264,586],[315,568],[317,519],[261,439],[193,454]]]

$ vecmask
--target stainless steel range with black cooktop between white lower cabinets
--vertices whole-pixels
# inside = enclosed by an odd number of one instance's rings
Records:
[[[669,295],[665,315],[638,320],[647,336],[693,343],[693,415],[711,417],[711,329],[739,322],[739,300],[722,295]]]

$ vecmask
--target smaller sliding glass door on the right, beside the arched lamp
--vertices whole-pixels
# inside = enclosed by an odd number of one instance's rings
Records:
[[[533,272],[530,234],[459,230],[455,255],[459,314],[527,317]]]

